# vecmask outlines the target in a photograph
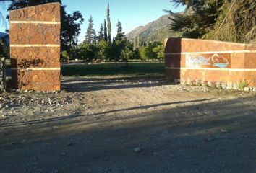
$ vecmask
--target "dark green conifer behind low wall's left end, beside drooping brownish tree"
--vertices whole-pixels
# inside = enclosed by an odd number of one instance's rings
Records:
[[[207,34],[216,23],[225,0],[172,0],[179,5],[186,6],[184,14],[172,13],[171,30],[182,32],[181,37],[201,38]],[[191,10],[189,10],[191,9]]]

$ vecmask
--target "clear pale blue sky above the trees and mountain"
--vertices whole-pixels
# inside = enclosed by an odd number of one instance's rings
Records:
[[[116,35],[116,23],[120,20],[125,33],[132,31],[135,27],[146,25],[158,19],[163,14],[164,9],[181,12],[183,6],[175,7],[170,0],[62,0],[62,4],[67,5],[66,11],[71,14],[74,11],[80,11],[85,19],[81,26],[81,35],[78,38],[82,42],[85,38],[85,32],[88,27],[90,15],[93,17],[94,29],[98,33],[101,23],[106,19],[106,8],[109,2],[111,17],[111,35]],[[6,9],[8,4],[5,4]],[[6,10],[1,12],[4,16],[8,13]],[[0,32],[3,32],[7,26],[0,25]]]

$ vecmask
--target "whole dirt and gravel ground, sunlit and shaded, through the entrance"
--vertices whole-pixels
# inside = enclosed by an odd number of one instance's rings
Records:
[[[256,93],[120,76],[0,95],[0,172],[256,172]]]

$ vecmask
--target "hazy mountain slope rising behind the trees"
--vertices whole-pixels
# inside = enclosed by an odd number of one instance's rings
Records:
[[[127,33],[127,39],[132,42],[154,42],[159,41],[163,43],[166,37],[177,37],[179,32],[171,32],[171,19],[170,14],[163,15],[153,22],[148,23],[145,26],[140,26]]]

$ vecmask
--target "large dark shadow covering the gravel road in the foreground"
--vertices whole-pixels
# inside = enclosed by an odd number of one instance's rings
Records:
[[[256,97],[191,102],[3,125],[0,172],[255,172]]]

